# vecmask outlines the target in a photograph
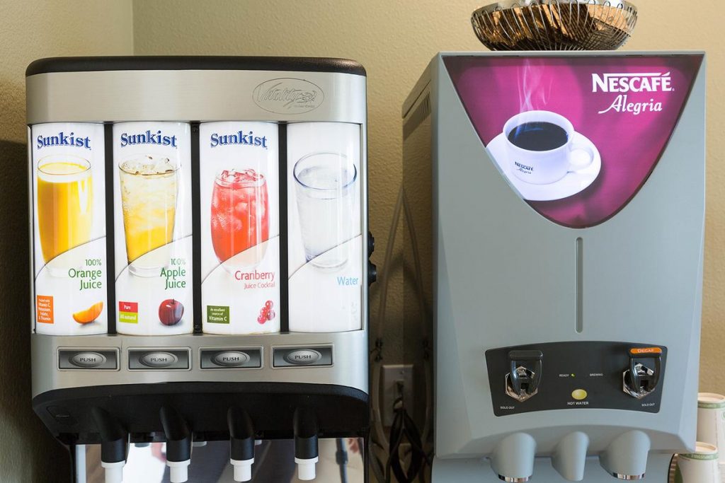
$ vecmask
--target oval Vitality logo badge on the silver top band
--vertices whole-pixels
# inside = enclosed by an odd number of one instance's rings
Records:
[[[275,114],[304,114],[325,100],[319,85],[294,77],[265,80],[252,92],[254,104]]]

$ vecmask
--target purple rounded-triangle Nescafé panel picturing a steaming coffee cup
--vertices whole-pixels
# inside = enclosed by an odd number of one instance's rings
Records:
[[[552,222],[624,209],[674,131],[703,56],[449,56],[444,63],[502,175]]]

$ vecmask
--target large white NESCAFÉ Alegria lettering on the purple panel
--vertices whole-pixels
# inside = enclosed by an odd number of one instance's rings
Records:
[[[592,74],[592,92],[618,93],[611,104],[599,111],[626,112],[638,116],[642,112],[662,112],[663,103],[650,97],[645,101],[630,101],[630,94],[672,92],[670,72]]]

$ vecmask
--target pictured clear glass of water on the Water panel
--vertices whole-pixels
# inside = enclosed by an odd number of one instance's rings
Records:
[[[358,228],[355,164],[344,154],[312,153],[297,161],[293,173],[305,258],[321,269],[344,265],[342,245]]]

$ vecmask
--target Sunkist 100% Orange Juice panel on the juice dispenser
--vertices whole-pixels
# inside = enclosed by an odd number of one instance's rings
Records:
[[[36,332],[104,334],[108,307],[103,125],[34,125],[30,153]]]

